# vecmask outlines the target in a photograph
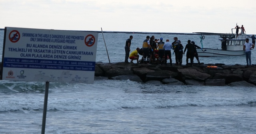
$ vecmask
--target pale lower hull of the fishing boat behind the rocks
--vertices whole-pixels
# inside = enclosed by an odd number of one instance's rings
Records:
[[[228,57],[228,56],[239,56],[245,55],[244,50],[239,51],[228,51],[220,49],[204,48],[204,52],[201,49],[196,49],[199,57]]]

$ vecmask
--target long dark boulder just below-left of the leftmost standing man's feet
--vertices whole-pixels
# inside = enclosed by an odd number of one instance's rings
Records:
[[[133,72],[127,69],[113,68],[106,71],[106,77],[111,78],[118,75],[132,75]]]

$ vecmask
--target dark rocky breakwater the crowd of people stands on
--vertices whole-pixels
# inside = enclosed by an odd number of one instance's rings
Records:
[[[215,68],[209,68],[214,66]],[[224,64],[148,65],[102,63],[95,66],[95,79],[130,80],[168,85],[248,86],[256,85],[256,66]]]

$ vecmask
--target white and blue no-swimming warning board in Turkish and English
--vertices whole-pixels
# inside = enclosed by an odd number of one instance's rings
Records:
[[[6,27],[4,37],[0,79],[94,82],[97,32]]]

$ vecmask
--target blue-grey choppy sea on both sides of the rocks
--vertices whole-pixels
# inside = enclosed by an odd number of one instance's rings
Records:
[[[194,34],[98,33],[96,62],[124,62],[130,35],[131,51],[142,47],[147,35],[171,42],[178,37],[183,45],[190,39],[201,46],[200,35]],[[3,38],[0,30],[0,59]],[[220,44],[218,35],[205,35],[203,47],[220,49]],[[205,64],[246,65],[245,56],[199,59]],[[252,50],[252,64],[255,59]],[[45,87],[44,82],[0,81],[0,134],[41,133]],[[108,79],[93,84],[50,83],[45,133],[255,134],[256,88]]]

